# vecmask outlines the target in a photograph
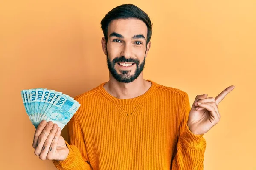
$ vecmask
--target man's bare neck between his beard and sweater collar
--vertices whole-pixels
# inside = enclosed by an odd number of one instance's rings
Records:
[[[112,75],[110,80],[103,86],[112,96],[119,99],[131,99],[144,94],[151,87],[151,82],[143,79],[140,74],[137,79],[130,83],[118,82]]]

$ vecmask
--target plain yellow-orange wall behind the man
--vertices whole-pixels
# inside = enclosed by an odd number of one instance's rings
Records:
[[[153,23],[143,75],[189,94],[216,97],[221,121],[204,137],[205,170],[256,170],[256,1],[3,0],[0,3],[0,169],[54,170],[34,155],[35,127],[20,91],[76,96],[108,81],[100,21],[133,3]],[[62,135],[67,139],[66,128]]]

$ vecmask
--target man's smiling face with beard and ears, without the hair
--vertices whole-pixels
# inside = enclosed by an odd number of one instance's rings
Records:
[[[108,42],[102,37],[102,48],[107,56],[108,70],[119,82],[133,82],[144,69],[147,26],[137,19],[113,20],[108,26]],[[146,51],[147,50],[147,51]]]

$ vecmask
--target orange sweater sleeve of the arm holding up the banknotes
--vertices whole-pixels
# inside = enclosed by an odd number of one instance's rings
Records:
[[[92,170],[86,152],[84,136],[81,127],[76,122],[75,115],[67,123],[67,132],[70,138],[69,154],[63,161],[53,160],[53,164],[58,170]]]

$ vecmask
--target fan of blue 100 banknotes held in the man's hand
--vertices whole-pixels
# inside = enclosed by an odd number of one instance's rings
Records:
[[[46,88],[22,90],[21,96],[26,113],[35,128],[42,120],[46,120],[63,129],[81,106],[72,97]]]

